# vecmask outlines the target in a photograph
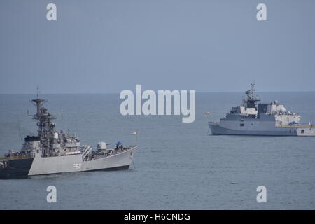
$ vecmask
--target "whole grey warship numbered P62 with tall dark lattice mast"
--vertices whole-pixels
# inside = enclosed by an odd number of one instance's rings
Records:
[[[137,144],[125,147],[118,142],[116,148],[107,148],[105,142],[99,142],[97,151],[92,151],[91,146],[81,146],[78,137],[55,130],[55,117],[43,107],[45,100],[38,94],[32,102],[37,108],[33,119],[37,120],[38,136],[27,136],[20,152],[9,151],[0,158],[0,179],[129,169]]]

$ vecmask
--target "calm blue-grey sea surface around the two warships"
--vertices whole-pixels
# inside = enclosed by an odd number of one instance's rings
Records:
[[[315,92],[258,92],[315,121]],[[43,94],[57,129],[82,144],[134,144],[130,170],[0,180],[0,209],[315,209],[315,137],[212,136],[208,121],[239,106],[243,93],[197,93],[196,120],[122,116],[119,94]],[[0,154],[36,134],[31,94],[0,94]],[[204,112],[209,111],[206,115]],[[18,122],[19,121],[19,122]],[[57,203],[46,188],[57,188]],[[258,203],[258,186],[267,203]]]

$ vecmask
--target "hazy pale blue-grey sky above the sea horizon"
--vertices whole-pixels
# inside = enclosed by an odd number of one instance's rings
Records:
[[[244,91],[253,80],[258,91],[314,91],[314,10],[314,0],[1,0],[0,93]]]

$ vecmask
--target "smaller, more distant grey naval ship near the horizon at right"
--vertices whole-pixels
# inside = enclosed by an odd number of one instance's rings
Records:
[[[254,91],[255,84],[251,84],[241,106],[232,107],[220,122],[209,122],[212,134],[315,136],[315,126],[311,122],[302,125],[299,114],[286,111],[277,101],[257,106],[260,99],[254,96]]]

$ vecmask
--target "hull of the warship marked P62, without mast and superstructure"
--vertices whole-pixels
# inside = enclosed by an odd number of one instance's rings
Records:
[[[0,179],[18,179],[29,176],[71,172],[92,172],[129,169],[137,147],[94,160],[84,161],[82,155],[65,155],[8,160],[8,165],[0,169]]]

